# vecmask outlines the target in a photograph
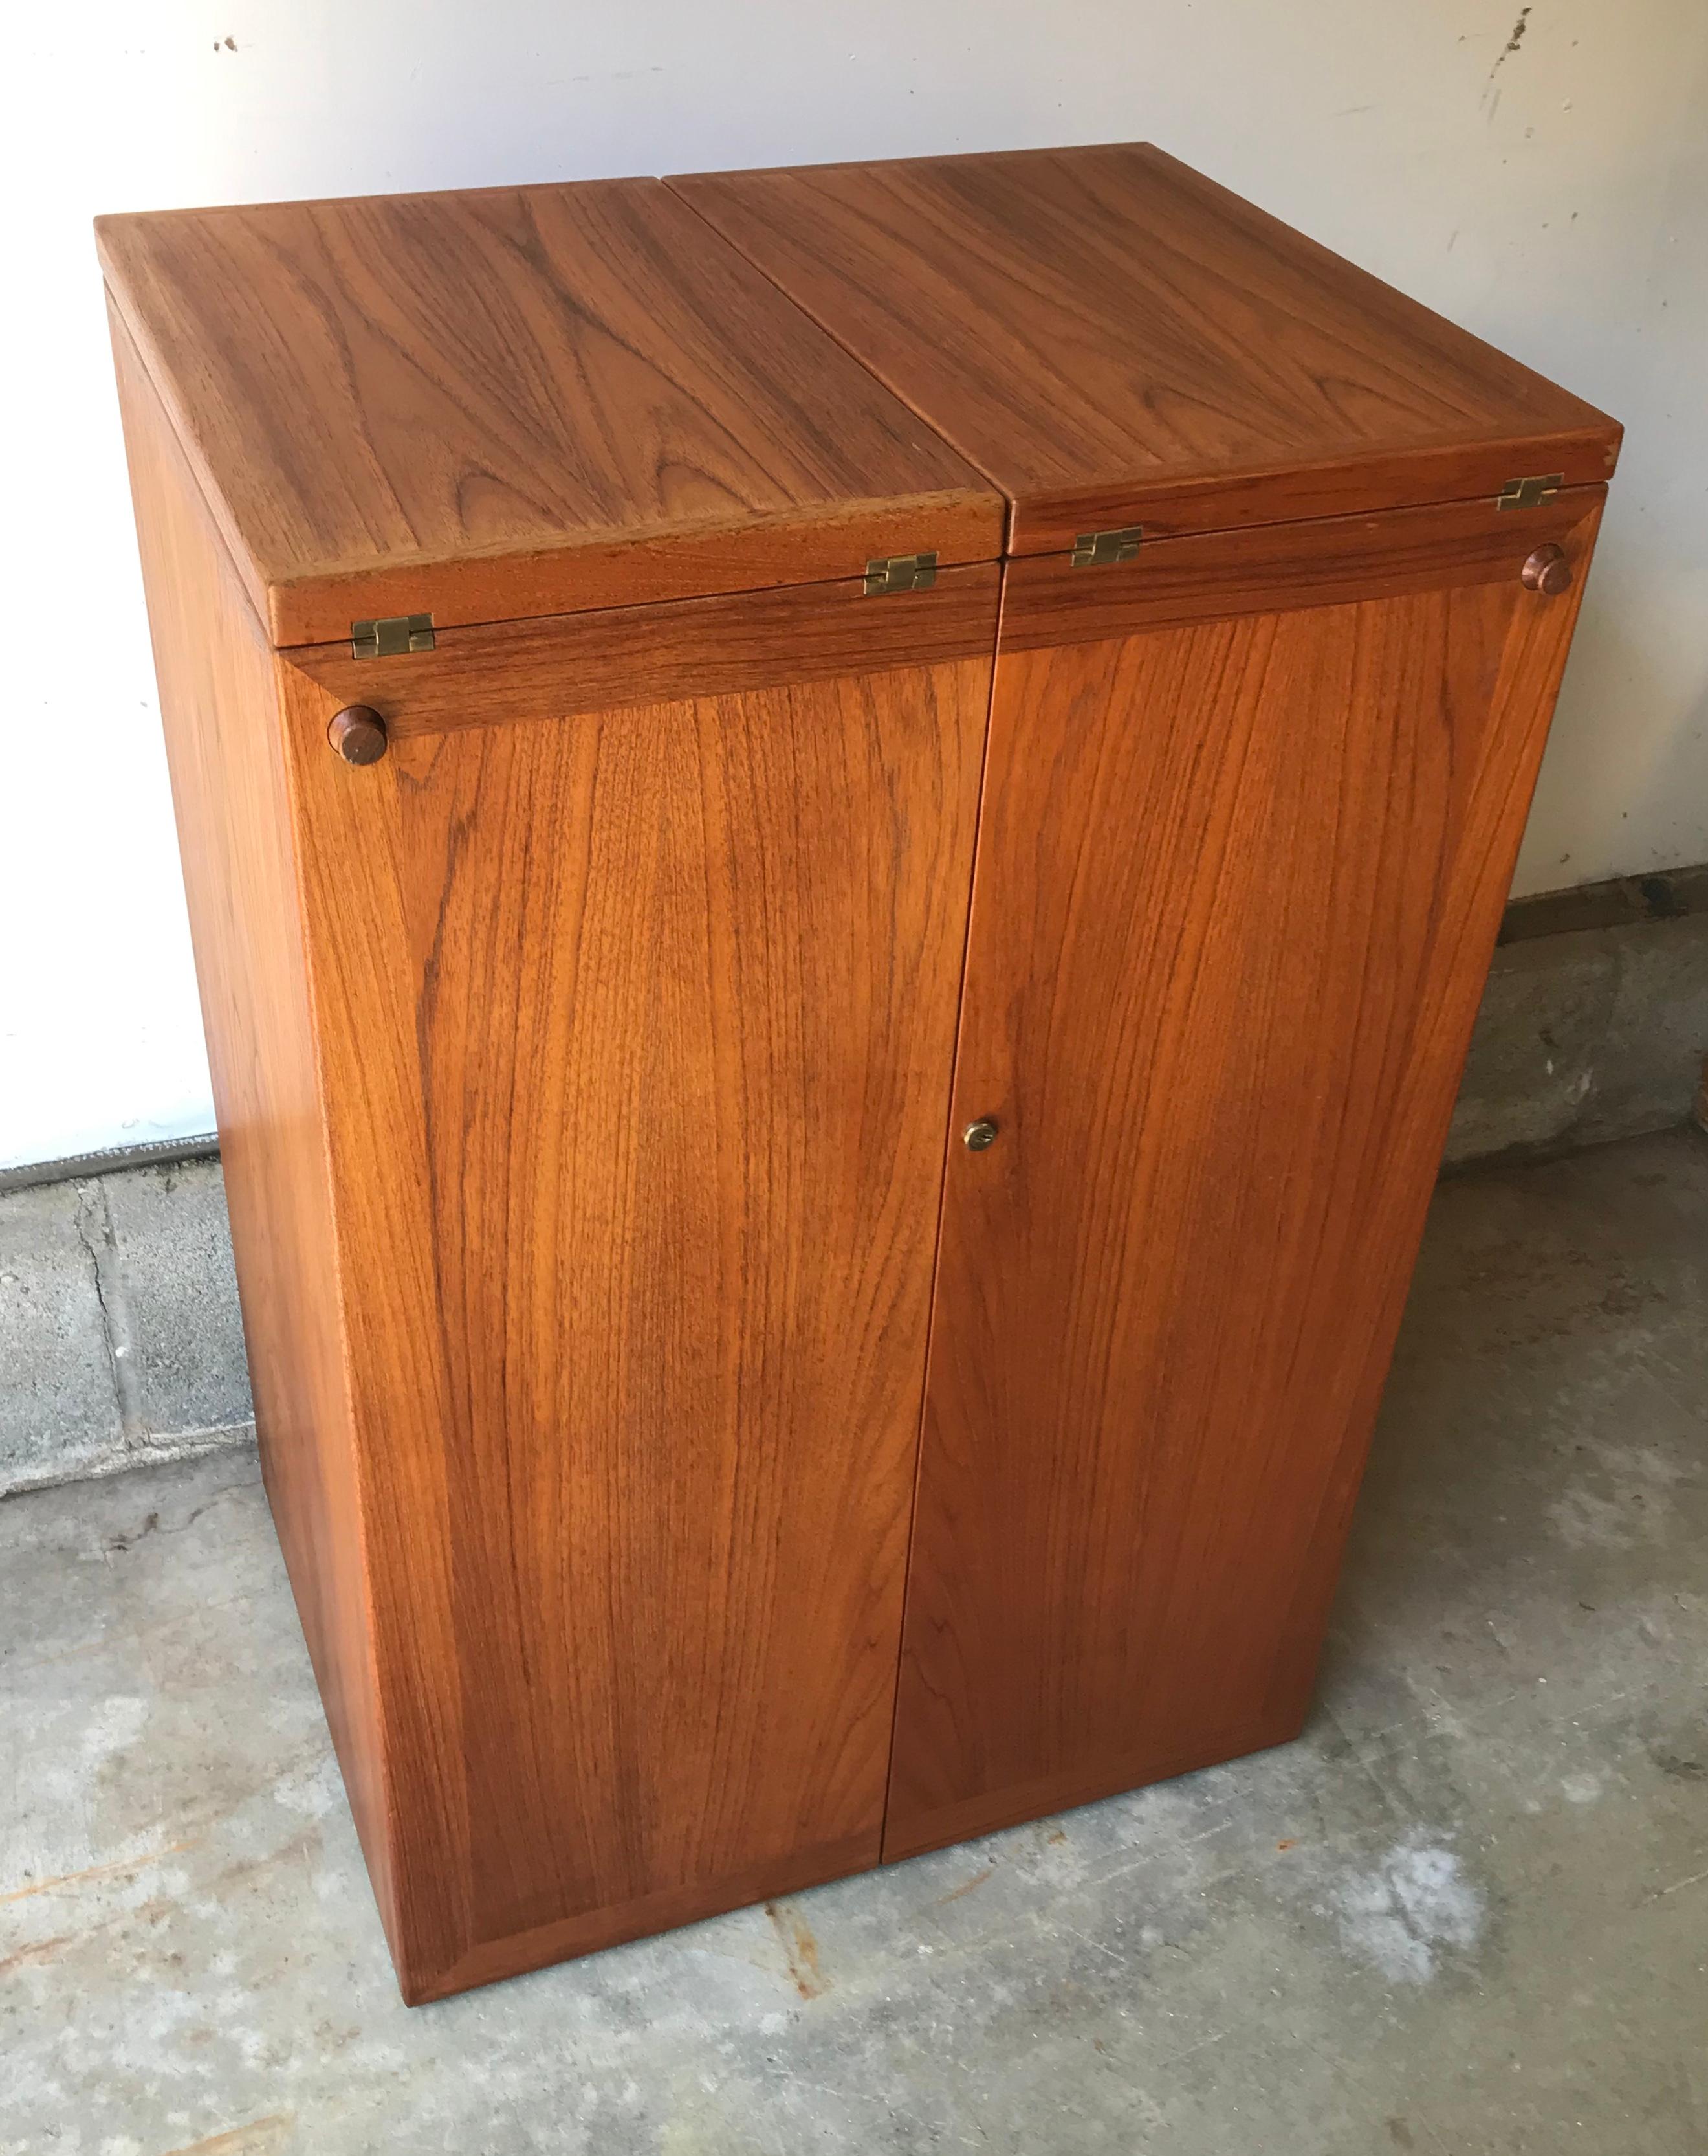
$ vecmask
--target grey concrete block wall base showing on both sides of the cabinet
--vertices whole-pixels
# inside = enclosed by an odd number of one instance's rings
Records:
[[[1708,869],[1523,899],[1445,1164],[1667,1130],[1691,1115],[1704,1056]],[[13,1173],[0,1188],[0,1494],[252,1434],[220,1162]]]

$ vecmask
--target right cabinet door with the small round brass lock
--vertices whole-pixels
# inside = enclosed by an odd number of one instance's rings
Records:
[[[885,1856],[1299,1729],[1600,498],[1010,565]]]

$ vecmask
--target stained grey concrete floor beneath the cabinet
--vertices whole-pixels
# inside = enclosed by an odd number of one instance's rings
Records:
[[[0,2152],[1702,2156],[1706,1270],[1443,1186],[1299,1744],[414,2014],[252,1455],[13,1498]]]

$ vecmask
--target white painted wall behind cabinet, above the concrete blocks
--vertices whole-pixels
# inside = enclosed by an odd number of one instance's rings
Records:
[[[1157,140],[1626,420],[1518,888],[1708,858],[1708,9],[1534,0],[1521,22],[1516,0],[22,15],[0,47],[0,1164],[211,1128],[103,209]]]

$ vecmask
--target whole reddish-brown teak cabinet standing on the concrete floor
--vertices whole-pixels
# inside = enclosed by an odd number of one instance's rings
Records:
[[[1294,1733],[1618,427],[1144,147],[99,239],[405,1996]]]

